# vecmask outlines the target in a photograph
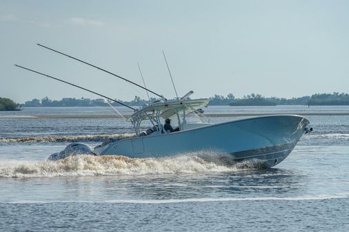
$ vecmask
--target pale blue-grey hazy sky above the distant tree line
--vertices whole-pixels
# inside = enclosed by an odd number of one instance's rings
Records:
[[[3,1],[0,97],[99,98],[43,72],[123,101],[143,89],[166,98],[251,93],[292,98],[349,92],[349,1]],[[150,94],[150,96],[154,96]],[[154,96],[156,97],[156,96]]]

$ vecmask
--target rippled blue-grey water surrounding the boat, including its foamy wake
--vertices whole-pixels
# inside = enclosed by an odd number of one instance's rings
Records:
[[[0,112],[0,231],[349,230],[349,107],[205,110],[308,114],[315,130],[272,169],[210,152],[48,162],[74,141],[93,147],[110,136],[133,136],[132,126],[123,118],[65,117],[113,114],[108,107]],[[41,115],[62,117],[28,117]]]

